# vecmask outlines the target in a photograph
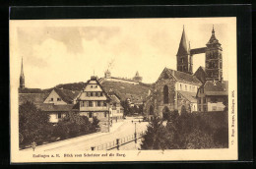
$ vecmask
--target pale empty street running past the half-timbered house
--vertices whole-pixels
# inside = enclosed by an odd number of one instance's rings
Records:
[[[133,121],[133,122],[132,122]],[[140,119],[142,121],[142,119]],[[34,151],[67,151],[71,150],[91,150],[92,146],[97,146],[110,141],[116,141],[116,139],[125,138],[134,135],[136,123],[136,132],[145,132],[147,130],[148,122],[139,123],[139,119],[128,117],[122,122],[113,124],[110,128],[110,133],[97,133],[88,136],[78,137],[70,139],[68,141],[52,142],[45,145],[35,147]],[[140,141],[138,141],[140,142]],[[134,145],[126,145],[125,149],[134,149]],[[121,149],[121,147],[120,147]],[[31,150],[32,148],[24,149],[24,151]]]

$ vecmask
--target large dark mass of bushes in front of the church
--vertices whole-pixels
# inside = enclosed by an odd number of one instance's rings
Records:
[[[170,113],[166,126],[154,118],[142,142],[143,149],[200,149],[228,147],[226,112]],[[157,139],[155,139],[157,137]],[[156,142],[157,141],[157,142]]]

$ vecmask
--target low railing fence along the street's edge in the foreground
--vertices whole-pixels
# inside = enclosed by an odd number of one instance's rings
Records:
[[[130,135],[121,139],[116,139],[115,141],[109,141],[107,143],[103,143],[100,145],[92,146],[92,150],[110,150],[117,148],[119,150],[119,146],[129,143],[131,141],[135,141],[135,143],[144,136],[144,132],[135,133],[134,135]]]

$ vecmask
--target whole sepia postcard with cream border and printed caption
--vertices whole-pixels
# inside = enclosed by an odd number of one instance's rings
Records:
[[[237,159],[236,18],[10,21],[12,162]]]

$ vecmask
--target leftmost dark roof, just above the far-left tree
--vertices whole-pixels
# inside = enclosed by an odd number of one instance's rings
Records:
[[[19,94],[19,105],[30,101],[33,104],[40,104],[46,99],[49,93],[20,93]]]

